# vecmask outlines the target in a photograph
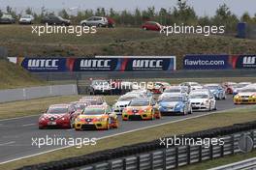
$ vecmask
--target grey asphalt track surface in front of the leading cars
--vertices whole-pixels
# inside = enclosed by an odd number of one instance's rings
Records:
[[[232,98],[228,97],[226,100],[217,100],[217,111],[227,110],[244,105],[234,105]],[[48,152],[53,149],[64,146],[43,146],[38,148],[32,146],[32,138],[48,136],[58,137],[73,137],[73,138],[102,138],[113,134],[123,133],[125,131],[134,130],[138,128],[146,128],[158,124],[174,122],[189,117],[195,117],[208,114],[208,112],[194,112],[192,115],[186,116],[168,116],[161,120],[154,121],[133,121],[122,122],[119,121],[119,128],[110,130],[85,130],[76,131],[75,129],[38,129],[39,116],[24,117],[11,120],[0,121],[0,164],[20,158],[23,156],[31,156]],[[125,144],[124,144],[125,145]]]

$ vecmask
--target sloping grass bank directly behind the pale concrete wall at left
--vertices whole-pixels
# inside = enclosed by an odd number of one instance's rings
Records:
[[[47,85],[47,82],[5,60],[0,60],[0,77],[0,89]]]

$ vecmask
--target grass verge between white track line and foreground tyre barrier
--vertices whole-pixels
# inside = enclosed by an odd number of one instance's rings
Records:
[[[62,158],[81,156],[85,154],[94,153],[97,151],[103,151],[106,149],[112,149],[124,145],[131,145],[146,141],[151,141],[164,136],[171,136],[174,134],[184,134],[188,132],[225,127],[233,124],[244,123],[252,120],[256,120],[256,106],[250,106],[247,108],[239,108],[226,112],[219,112],[208,116],[190,119],[183,122],[171,123],[164,126],[155,128],[147,128],[130,133],[116,135],[103,140],[98,140],[95,146],[84,146],[80,149],[75,147],[51,152],[48,154],[33,156],[29,158],[23,158],[10,163],[0,165],[0,169],[15,169],[24,165],[48,162],[53,160],[59,160]],[[120,125],[121,126],[121,125]],[[185,127],[185,128],[184,128]],[[82,131],[81,131],[82,133]],[[106,145],[108,144],[108,145]],[[200,169],[200,168],[198,168]],[[204,169],[204,168],[203,168]]]

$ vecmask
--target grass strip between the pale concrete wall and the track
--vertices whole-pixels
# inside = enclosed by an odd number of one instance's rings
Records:
[[[64,96],[0,103],[0,119],[16,118],[36,114],[40,115],[43,111],[46,111],[48,105],[50,104],[68,103],[79,100],[80,98],[81,96]],[[117,99],[117,97],[106,96],[105,99],[108,103],[112,104],[114,99]]]

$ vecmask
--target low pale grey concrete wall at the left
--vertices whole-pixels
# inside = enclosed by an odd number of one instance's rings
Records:
[[[45,97],[78,95],[76,84],[39,86],[30,88],[8,89],[0,91],[0,102],[39,99]]]

